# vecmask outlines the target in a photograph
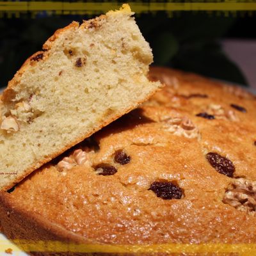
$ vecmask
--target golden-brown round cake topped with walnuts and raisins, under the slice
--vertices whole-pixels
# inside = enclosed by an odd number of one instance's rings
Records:
[[[0,193],[9,239],[84,245],[31,255],[237,255],[228,244],[256,243],[255,96],[168,68],[150,79],[166,87]]]

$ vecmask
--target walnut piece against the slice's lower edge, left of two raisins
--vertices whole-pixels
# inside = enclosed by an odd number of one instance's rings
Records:
[[[64,157],[57,164],[57,168],[61,171],[70,170],[76,165],[82,165],[86,163],[87,159],[87,153],[81,149],[77,149],[74,150],[74,152],[70,156]]]

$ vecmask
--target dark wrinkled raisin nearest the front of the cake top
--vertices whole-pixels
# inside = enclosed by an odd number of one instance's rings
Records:
[[[179,186],[173,184],[172,182],[153,182],[150,185],[150,189],[152,190],[157,197],[161,197],[163,199],[180,199],[182,197],[182,190]]]

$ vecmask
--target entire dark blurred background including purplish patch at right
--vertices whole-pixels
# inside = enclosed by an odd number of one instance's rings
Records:
[[[26,58],[42,49],[56,29],[93,16],[27,12],[17,17],[1,12],[0,87],[7,85]],[[255,12],[181,11],[170,15],[159,11],[135,17],[153,49],[154,65],[256,88]]]

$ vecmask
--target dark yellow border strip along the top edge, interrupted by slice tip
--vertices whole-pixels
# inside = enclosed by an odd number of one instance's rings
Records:
[[[255,2],[238,2],[238,1],[225,1],[216,3],[199,3],[199,2],[186,2],[186,3],[140,3],[131,2],[132,11],[136,13],[142,12],[177,12],[177,11],[255,11]],[[76,2],[68,3],[61,1],[24,1],[24,2],[11,2],[0,1],[0,12],[42,12],[42,11],[56,11],[56,12],[107,12],[108,10],[118,9],[120,3],[93,3],[93,2]]]

